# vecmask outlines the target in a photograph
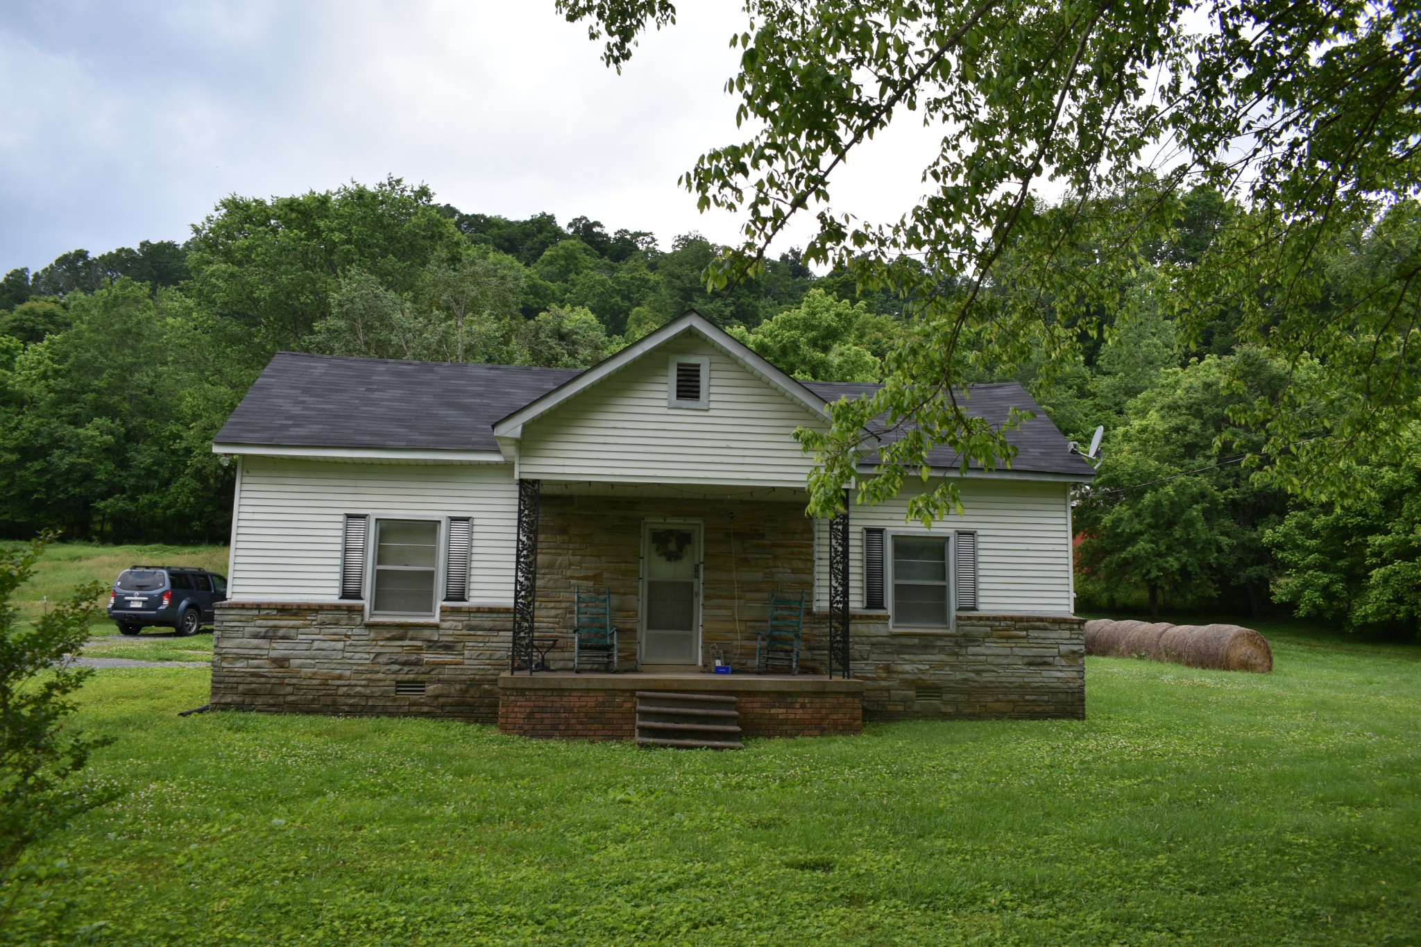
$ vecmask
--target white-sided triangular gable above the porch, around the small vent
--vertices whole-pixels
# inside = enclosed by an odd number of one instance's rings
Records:
[[[668,406],[676,355],[706,359],[705,410]],[[816,420],[719,348],[681,338],[529,422],[519,476],[803,488],[810,459],[793,434]]]

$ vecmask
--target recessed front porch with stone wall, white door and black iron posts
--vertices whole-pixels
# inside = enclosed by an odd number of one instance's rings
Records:
[[[581,591],[610,593],[618,670],[708,672],[719,657],[755,672],[777,593],[803,596],[800,673],[850,676],[847,524],[823,531],[837,549],[816,548],[803,490],[524,480],[519,493],[509,670],[573,670]]]

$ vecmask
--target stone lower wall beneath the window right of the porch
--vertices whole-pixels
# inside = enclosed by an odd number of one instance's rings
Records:
[[[850,616],[851,672],[865,720],[1086,716],[1086,619],[958,613],[952,632]]]

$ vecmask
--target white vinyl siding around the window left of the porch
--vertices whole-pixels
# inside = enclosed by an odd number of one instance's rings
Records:
[[[368,513],[372,518],[472,517],[469,599],[510,605],[517,505],[510,464],[244,457],[233,524],[230,596],[337,601],[345,514]]]

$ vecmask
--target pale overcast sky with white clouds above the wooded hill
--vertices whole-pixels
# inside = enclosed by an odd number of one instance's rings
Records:
[[[678,6],[617,75],[553,0],[0,0],[0,273],[182,241],[229,193],[385,175],[466,212],[730,241],[676,177],[737,139],[739,4]],[[931,145],[878,136],[836,210],[897,217]]]

